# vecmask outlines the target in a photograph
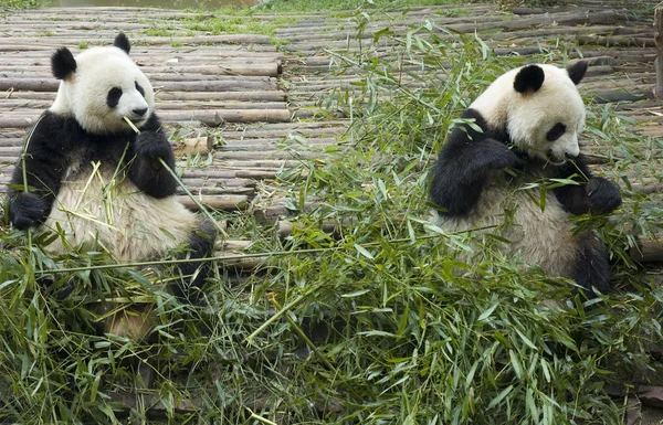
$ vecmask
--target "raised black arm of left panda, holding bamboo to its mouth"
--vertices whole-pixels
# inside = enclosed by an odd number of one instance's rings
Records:
[[[136,136],[129,158],[129,179],[143,192],[154,198],[166,198],[176,192],[177,181],[159,161],[162,159],[170,170],[175,170],[172,147],[156,115],[151,115]]]

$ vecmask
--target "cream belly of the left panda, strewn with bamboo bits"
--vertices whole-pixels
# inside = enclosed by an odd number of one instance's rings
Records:
[[[71,247],[92,244],[118,261],[154,258],[190,240],[198,219],[175,196],[148,196],[122,173],[114,179],[114,173],[101,168],[65,178],[44,227],[63,232]],[[62,237],[48,249],[70,251]]]

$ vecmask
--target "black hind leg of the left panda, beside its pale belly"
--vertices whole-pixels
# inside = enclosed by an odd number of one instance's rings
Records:
[[[201,288],[211,269],[209,262],[197,259],[211,257],[214,253],[217,229],[207,219],[200,220],[199,229],[191,232],[188,248],[179,255],[181,259],[192,259],[178,264],[181,279],[171,288],[180,300],[191,305],[203,304]]]

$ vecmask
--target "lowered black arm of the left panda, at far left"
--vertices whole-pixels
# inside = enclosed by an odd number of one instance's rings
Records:
[[[49,216],[66,167],[67,140],[76,131],[70,127],[49,111],[34,127],[9,187],[9,220],[14,227],[35,226]]]

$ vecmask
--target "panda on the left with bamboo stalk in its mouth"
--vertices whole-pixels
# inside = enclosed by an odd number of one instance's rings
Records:
[[[9,219],[19,230],[59,233],[46,246],[54,254],[84,246],[117,262],[144,262],[187,246],[180,255],[191,262],[179,264],[182,283],[172,291],[198,304],[209,267],[197,259],[211,256],[215,230],[175,196],[178,183],[160,162],[173,170],[173,151],[155,114],[152,86],[129,51],[120,32],[113,46],[75,57],[61,47],[52,55],[60,87],[14,169]],[[126,319],[110,329],[144,328],[141,319]]]

